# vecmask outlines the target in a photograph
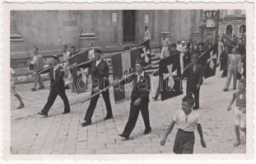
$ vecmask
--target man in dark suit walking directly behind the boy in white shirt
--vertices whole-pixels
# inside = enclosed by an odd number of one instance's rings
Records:
[[[203,78],[203,68],[198,64],[198,54],[193,54],[191,56],[191,62],[193,63],[189,67],[189,77],[187,80],[187,95],[193,96],[195,98],[194,110],[199,108],[199,91],[202,84]]]

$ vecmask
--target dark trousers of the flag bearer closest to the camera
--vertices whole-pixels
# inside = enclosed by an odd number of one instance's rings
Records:
[[[151,129],[150,121],[149,121],[148,103],[141,103],[137,106],[131,103],[129,118],[128,118],[128,122],[124,127],[123,135],[129,136],[132,133],[136,125],[137,117],[140,111],[142,112],[142,118],[144,121],[145,129],[146,130]]]

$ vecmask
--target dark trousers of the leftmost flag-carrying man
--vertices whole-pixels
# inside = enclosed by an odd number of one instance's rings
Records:
[[[44,109],[42,110],[43,113],[48,114],[49,109],[53,106],[55,99],[57,98],[58,95],[60,96],[60,98],[63,99],[64,112],[70,112],[70,106],[67,99],[67,95],[65,93],[65,89],[61,89],[61,90],[51,89],[49,92],[47,103],[44,105]]]

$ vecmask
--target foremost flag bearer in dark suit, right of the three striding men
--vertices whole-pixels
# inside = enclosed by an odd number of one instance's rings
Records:
[[[151,90],[151,81],[149,75],[146,75],[143,71],[145,62],[136,62],[136,74],[129,77],[127,80],[121,81],[120,84],[127,84],[133,81],[133,91],[131,95],[130,113],[128,122],[124,127],[123,133],[119,136],[128,139],[132,133],[139,112],[142,112],[142,118],[145,125],[145,131],[143,134],[149,134],[151,132],[151,126],[149,121],[148,103],[149,93]]]

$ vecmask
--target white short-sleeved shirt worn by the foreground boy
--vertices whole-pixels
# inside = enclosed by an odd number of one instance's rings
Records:
[[[184,131],[194,131],[196,126],[200,124],[200,116],[197,112],[191,112],[189,115],[186,115],[183,110],[175,112],[173,121],[176,122],[178,128]]]

